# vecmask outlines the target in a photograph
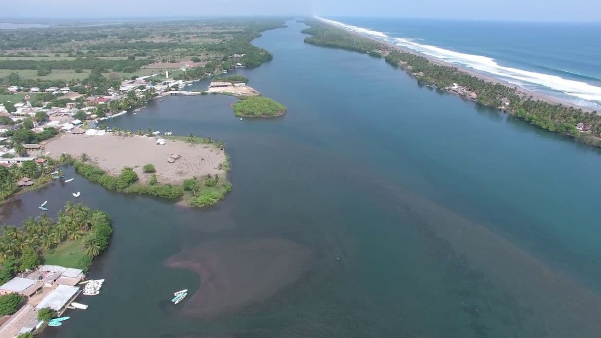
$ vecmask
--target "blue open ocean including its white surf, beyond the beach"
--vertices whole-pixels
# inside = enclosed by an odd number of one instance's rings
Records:
[[[327,17],[336,25],[601,110],[601,22]]]

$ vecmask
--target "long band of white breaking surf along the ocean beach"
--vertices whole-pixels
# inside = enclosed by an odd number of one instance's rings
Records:
[[[502,79],[519,87],[528,88],[531,90],[538,88],[548,91],[558,91],[569,96],[578,97],[578,99],[581,100],[589,101],[587,104],[588,106],[601,105],[601,87],[588,84],[584,81],[564,79],[557,75],[549,75],[545,73],[517,69],[514,67],[501,66],[495,59],[485,57],[483,55],[472,55],[450,51],[437,46],[419,43],[418,41],[421,39],[389,37],[383,32],[374,31],[373,29],[347,25],[346,23],[323,19],[321,17],[319,17],[319,19],[325,20],[332,25],[349,29],[350,31],[379,38],[380,40],[393,43],[394,45],[401,46],[403,48],[412,49],[413,51],[447,61],[448,63],[457,64],[459,66],[476,70],[477,72],[492,75],[495,78]],[[586,76],[582,74],[579,75]],[[580,102],[580,104],[581,103],[582,102]]]

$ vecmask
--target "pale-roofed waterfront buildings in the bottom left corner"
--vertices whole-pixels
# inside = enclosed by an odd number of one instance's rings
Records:
[[[49,307],[59,315],[63,313],[81,293],[77,284],[84,278],[81,269],[41,265],[0,285],[0,295],[18,293],[26,299],[26,303],[0,326],[0,337],[35,331],[43,324],[37,319],[40,309]]]

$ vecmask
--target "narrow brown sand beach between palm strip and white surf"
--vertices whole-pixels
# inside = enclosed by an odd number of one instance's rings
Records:
[[[321,23],[323,23],[325,25],[328,25],[330,27],[341,29],[342,31],[347,32],[347,33],[352,34],[352,35],[355,35],[356,37],[367,38],[367,39],[369,39],[371,41],[379,43],[382,46],[395,49],[396,51],[401,51],[401,52],[404,52],[404,53],[407,53],[407,54],[412,54],[412,55],[416,55],[418,57],[426,58],[428,61],[430,61],[430,63],[437,64],[439,66],[444,66],[444,67],[456,68],[456,69],[460,70],[460,72],[467,73],[467,74],[469,74],[471,76],[474,76],[475,78],[484,80],[486,82],[490,82],[492,84],[501,84],[501,85],[504,85],[505,87],[515,88],[516,91],[517,91],[517,93],[520,96],[522,96],[522,97],[532,96],[533,100],[541,100],[541,101],[544,101],[546,103],[551,103],[552,105],[563,105],[563,106],[573,107],[575,109],[582,109],[582,111],[585,111],[585,112],[594,112],[595,111],[595,109],[588,108],[588,107],[585,107],[585,106],[576,105],[575,103],[568,102],[566,100],[561,100],[561,99],[557,99],[555,97],[551,97],[551,96],[548,96],[548,95],[545,95],[545,94],[536,93],[535,91],[532,91],[532,90],[529,90],[529,89],[526,89],[526,88],[523,88],[523,87],[519,87],[518,85],[511,84],[510,82],[504,81],[502,79],[495,78],[495,77],[490,76],[490,75],[486,75],[486,74],[477,72],[477,71],[475,71],[473,69],[469,69],[468,67],[465,67],[465,66],[461,66],[461,65],[454,64],[454,63],[450,63],[448,61],[444,61],[444,60],[441,60],[441,59],[436,58],[436,57],[432,57],[432,56],[427,55],[427,54],[423,54],[423,53],[420,53],[420,52],[417,52],[417,51],[413,51],[413,49],[410,49],[410,48],[406,48],[406,47],[403,47],[403,46],[394,45],[394,43],[390,43],[388,41],[382,41],[382,40],[379,40],[379,39],[377,39],[375,37],[371,37],[370,35],[367,35],[367,34],[361,34],[359,32],[351,31],[350,29],[345,29],[343,27],[340,27],[340,26],[332,24],[332,23],[328,22],[327,20],[322,19],[321,17],[314,17],[314,19],[319,20],[319,22],[321,22]],[[442,88],[439,88],[439,89],[442,90]],[[601,111],[597,111],[597,115],[601,115]]]

